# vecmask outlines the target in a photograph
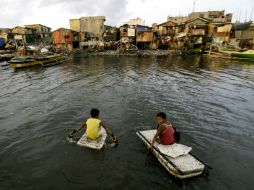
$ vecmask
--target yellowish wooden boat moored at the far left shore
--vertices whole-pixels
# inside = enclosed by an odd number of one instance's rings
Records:
[[[10,66],[14,69],[19,68],[26,68],[26,67],[32,67],[32,66],[46,66],[53,63],[61,63],[63,61],[66,61],[67,58],[62,55],[49,55],[45,57],[14,57],[8,63]]]

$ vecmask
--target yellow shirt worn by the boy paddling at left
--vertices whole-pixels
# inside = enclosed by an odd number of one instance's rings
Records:
[[[86,121],[86,136],[88,136],[90,139],[97,139],[100,134],[100,123],[101,120],[96,118],[90,118]]]

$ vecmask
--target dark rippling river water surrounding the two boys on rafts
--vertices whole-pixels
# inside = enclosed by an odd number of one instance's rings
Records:
[[[254,185],[254,64],[189,57],[75,56],[0,70],[0,189],[220,189]],[[92,151],[66,136],[91,108],[119,139]],[[176,180],[135,132],[164,111],[213,167]],[[81,135],[81,134],[80,134]]]

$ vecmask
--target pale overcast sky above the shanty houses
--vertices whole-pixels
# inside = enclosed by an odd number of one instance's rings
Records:
[[[29,3],[28,3],[29,2]],[[0,0],[0,28],[40,23],[69,28],[70,18],[106,16],[108,25],[119,26],[140,17],[147,25],[165,22],[167,16],[187,15],[194,0]],[[254,20],[254,0],[196,0],[195,11],[225,10],[233,20]],[[252,14],[251,14],[252,13]]]

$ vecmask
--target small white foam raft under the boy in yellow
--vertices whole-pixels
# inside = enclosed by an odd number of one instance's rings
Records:
[[[105,144],[105,140],[107,138],[107,133],[103,127],[101,127],[100,133],[101,137],[99,137],[96,140],[92,140],[89,137],[87,137],[86,134],[84,134],[77,142],[77,145],[95,150],[102,149],[102,147]]]

